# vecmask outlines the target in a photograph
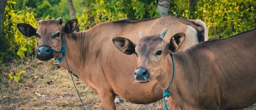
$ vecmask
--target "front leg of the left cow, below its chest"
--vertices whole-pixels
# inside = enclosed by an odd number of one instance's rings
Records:
[[[101,98],[101,103],[105,110],[116,110],[115,108],[115,95],[107,90],[98,91],[99,98]]]

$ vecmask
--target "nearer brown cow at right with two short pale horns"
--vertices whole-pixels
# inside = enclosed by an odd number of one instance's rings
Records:
[[[172,80],[170,53],[175,52],[176,75],[168,91],[181,109],[241,109],[256,102],[256,29],[177,51],[184,40],[184,33],[175,34],[169,43],[161,35],[142,36],[137,45],[126,38],[113,39],[126,41],[125,47],[114,43],[118,48],[135,51],[136,80],[146,84],[156,79],[162,90]]]

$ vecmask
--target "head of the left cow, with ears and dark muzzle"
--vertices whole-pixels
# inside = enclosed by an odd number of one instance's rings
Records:
[[[56,20],[40,20],[37,28],[26,23],[19,23],[17,27],[26,37],[37,37],[37,58],[40,60],[50,60],[59,54],[50,48],[61,50],[62,35],[73,33],[77,27],[77,19],[68,21],[65,23],[65,26],[62,25],[62,22],[62,19],[58,18]]]

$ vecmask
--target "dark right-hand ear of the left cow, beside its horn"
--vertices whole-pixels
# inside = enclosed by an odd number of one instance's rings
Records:
[[[75,28],[77,28],[77,19],[71,19],[70,21],[65,23],[62,33],[63,34],[71,34],[75,31]]]

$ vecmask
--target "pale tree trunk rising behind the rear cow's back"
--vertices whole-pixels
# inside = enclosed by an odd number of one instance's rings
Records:
[[[157,12],[159,12],[161,16],[168,14],[170,4],[171,0],[159,0],[157,4]]]

